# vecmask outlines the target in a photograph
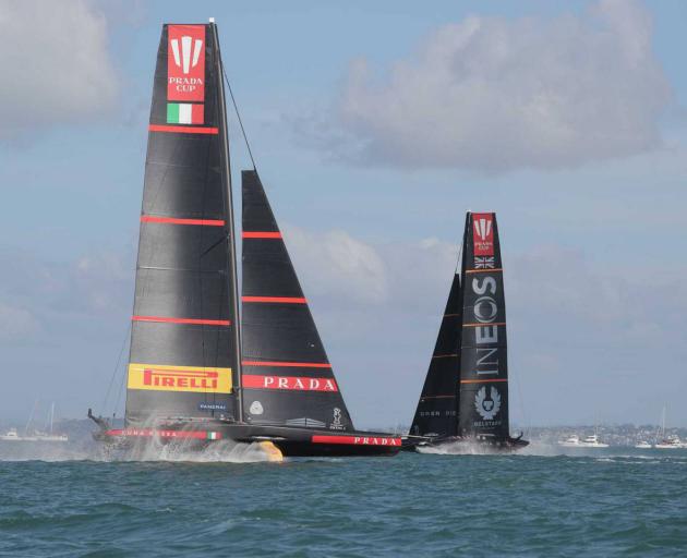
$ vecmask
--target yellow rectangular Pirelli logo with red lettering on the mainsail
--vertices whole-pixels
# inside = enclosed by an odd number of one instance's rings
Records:
[[[231,368],[131,363],[126,386],[154,391],[231,393]]]

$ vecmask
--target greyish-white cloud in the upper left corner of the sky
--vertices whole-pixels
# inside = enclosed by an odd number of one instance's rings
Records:
[[[0,3],[0,140],[109,110],[117,74],[107,24],[87,0]]]

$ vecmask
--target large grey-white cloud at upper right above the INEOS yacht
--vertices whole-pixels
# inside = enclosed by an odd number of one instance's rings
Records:
[[[581,15],[471,16],[436,29],[375,75],[351,64],[317,122],[336,156],[367,165],[556,169],[655,149],[672,92],[635,1]]]

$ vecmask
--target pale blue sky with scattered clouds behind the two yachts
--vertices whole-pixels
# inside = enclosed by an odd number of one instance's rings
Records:
[[[411,421],[467,210],[511,422],[687,426],[687,4],[427,5],[0,0],[0,422],[121,414],[159,33],[214,16],[357,426]]]

